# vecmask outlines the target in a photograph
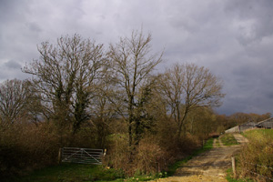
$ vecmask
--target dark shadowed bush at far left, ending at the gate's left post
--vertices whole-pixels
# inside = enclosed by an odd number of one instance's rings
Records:
[[[0,172],[18,175],[31,168],[56,163],[58,137],[47,126],[15,124],[0,131]]]

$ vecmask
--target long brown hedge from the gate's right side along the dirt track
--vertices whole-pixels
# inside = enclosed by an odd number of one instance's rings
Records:
[[[156,175],[167,171],[171,163],[200,147],[195,136],[176,139],[175,136],[167,135],[166,138],[169,139],[167,143],[165,139],[160,140],[158,134],[147,134],[135,148],[128,147],[126,135],[116,134],[110,137],[112,145],[106,155],[106,165],[121,169],[130,177]]]

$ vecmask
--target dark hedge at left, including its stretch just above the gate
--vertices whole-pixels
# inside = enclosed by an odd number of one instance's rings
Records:
[[[38,125],[28,122],[2,125],[0,176],[22,175],[36,168],[55,165],[60,147],[90,146],[91,139],[88,137],[90,136],[85,131],[72,135],[69,128],[58,129],[50,122]]]

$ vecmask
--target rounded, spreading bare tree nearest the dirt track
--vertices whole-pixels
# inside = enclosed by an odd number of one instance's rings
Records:
[[[177,136],[185,131],[187,114],[198,106],[220,106],[222,83],[203,66],[175,65],[161,76],[160,92],[177,123]]]

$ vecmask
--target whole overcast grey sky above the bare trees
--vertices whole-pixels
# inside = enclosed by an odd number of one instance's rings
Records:
[[[219,114],[273,114],[273,0],[0,0],[0,82],[28,77],[36,46],[78,33],[115,43],[151,33],[158,69],[206,66],[224,81]]]

